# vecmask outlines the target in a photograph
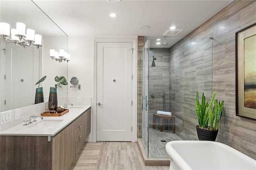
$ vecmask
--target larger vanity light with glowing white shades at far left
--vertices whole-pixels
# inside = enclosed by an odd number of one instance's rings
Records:
[[[22,45],[25,49],[29,47],[31,44],[35,45],[38,49],[42,46],[42,36],[39,34],[35,34],[35,31],[32,29],[27,29],[27,34],[25,34],[26,25],[21,22],[16,23],[16,29],[11,29],[10,36],[10,24],[5,22],[0,22],[0,36],[4,38],[4,40],[10,40],[14,42],[15,45]]]

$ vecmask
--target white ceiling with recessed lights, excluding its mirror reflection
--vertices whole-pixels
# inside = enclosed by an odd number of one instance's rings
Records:
[[[162,44],[163,34],[170,26],[183,31],[177,36],[167,37],[167,43],[170,37],[176,40],[183,38],[233,0],[33,1],[68,36],[146,36],[161,38]],[[110,13],[117,16],[111,18]],[[139,30],[139,26],[150,28]]]

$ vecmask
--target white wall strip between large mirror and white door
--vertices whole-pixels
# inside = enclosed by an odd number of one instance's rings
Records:
[[[78,78],[81,89],[68,86],[68,97],[92,97],[93,94],[93,37],[68,37],[68,83]],[[81,101],[82,102],[82,101]]]

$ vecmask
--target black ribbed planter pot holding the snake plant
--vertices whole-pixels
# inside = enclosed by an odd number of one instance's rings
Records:
[[[210,141],[215,141],[217,134],[218,134],[218,129],[217,130],[206,130],[199,128],[198,125],[196,126],[196,132],[199,140],[210,140]]]

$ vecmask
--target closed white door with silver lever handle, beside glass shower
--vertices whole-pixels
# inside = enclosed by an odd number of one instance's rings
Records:
[[[97,141],[132,141],[132,43],[97,43]]]

